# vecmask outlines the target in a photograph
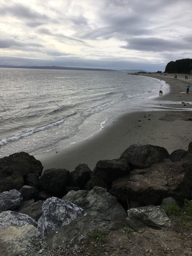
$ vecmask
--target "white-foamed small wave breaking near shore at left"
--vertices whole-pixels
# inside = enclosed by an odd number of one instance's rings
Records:
[[[42,130],[47,130],[47,129],[53,127],[53,126],[58,126],[58,125],[62,124],[66,120],[67,117],[70,117],[71,115],[75,115],[75,114],[76,114],[76,112],[74,112],[73,114],[70,114],[70,115],[68,115],[68,116],[66,116],[66,117],[64,117],[64,118],[62,118],[62,119],[60,119],[60,120],[58,120],[54,123],[46,124],[44,126],[40,126],[40,127],[34,128],[34,129],[26,130],[24,132],[17,133],[12,137],[2,139],[0,141],[0,146],[6,145],[7,143],[9,143],[11,141],[18,141],[21,138],[27,137],[29,135],[32,135],[32,134],[34,134],[36,132],[39,132],[39,131],[42,131]]]

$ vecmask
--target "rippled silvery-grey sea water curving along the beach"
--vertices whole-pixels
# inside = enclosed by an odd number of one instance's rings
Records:
[[[159,90],[124,72],[0,68],[0,157],[86,139],[113,115],[150,110]]]

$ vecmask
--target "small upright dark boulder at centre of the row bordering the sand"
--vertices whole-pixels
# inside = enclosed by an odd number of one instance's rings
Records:
[[[68,186],[79,187],[83,189],[92,171],[89,169],[87,164],[79,164],[75,167],[75,171],[69,173]]]

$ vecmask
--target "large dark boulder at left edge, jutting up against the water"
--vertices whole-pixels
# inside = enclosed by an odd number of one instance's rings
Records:
[[[28,173],[41,175],[42,170],[41,162],[25,152],[0,158],[0,192],[12,188],[19,190]]]

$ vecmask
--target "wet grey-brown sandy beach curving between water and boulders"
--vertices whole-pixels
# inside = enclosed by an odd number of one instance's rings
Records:
[[[192,141],[192,121],[189,120],[192,119],[192,88],[189,94],[182,92],[186,92],[187,83],[191,85],[192,75],[188,75],[188,80],[185,74],[177,74],[177,79],[174,75],[145,74],[170,85],[169,93],[156,99],[153,111],[112,117],[89,139],[34,155],[35,158],[42,162],[43,170],[64,168],[73,171],[80,163],[93,170],[98,160],[119,158],[131,144],[158,145],[170,154],[175,149],[187,150]]]

